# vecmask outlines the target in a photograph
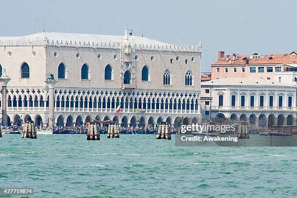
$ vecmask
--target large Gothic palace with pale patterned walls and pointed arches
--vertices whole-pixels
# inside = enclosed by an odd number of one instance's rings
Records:
[[[94,119],[125,127],[197,123],[201,48],[201,43],[178,46],[134,36],[127,27],[122,36],[2,36],[0,71],[5,68],[11,78],[8,125],[33,120],[36,125],[79,126]],[[56,83],[46,82],[49,74]]]

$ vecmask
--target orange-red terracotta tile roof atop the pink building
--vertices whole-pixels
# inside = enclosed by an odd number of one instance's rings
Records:
[[[249,58],[249,55],[238,55],[237,60],[232,59],[230,55],[231,64],[229,61],[226,61],[226,56],[219,59],[213,65],[246,65],[246,61],[243,58],[247,58],[248,65],[257,65],[257,64],[297,64],[297,56],[291,54],[270,54],[265,55],[262,58],[253,59]],[[270,58],[271,57],[271,58]],[[270,58],[270,59],[269,59]]]

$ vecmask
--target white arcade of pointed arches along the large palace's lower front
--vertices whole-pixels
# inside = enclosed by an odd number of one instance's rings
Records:
[[[48,111],[48,90],[45,88],[7,89],[7,110],[9,122],[18,123],[19,120],[32,119],[36,123],[42,122],[43,113]],[[116,106],[121,103],[122,113],[135,113],[136,109],[146,109],[147,113],[197,115],[198,93],[150,92],[150,91],[121,91],[121,90],[92,90],[92,89],[58,89],[54,90],[55,123],[71,126],[69,123],[84,123],[85,117],[66,117],[67,113],[79,112],[107,114],[114,113]],[[25,112],[37,113],[23,115]],[[66,114],[65,114],[65,113]],[[12,115],[17,113],[18,115]],[[23,116],[21,116],[23,115]],[[36,116],[35,116],[36,115]],[[38,120],[37,120],[37,118]],[[100,117],[103,119],[103,117]],[[11,120],[10,120],[11,119]],[[157,119],[154,118],[156,121]],[[163,118],[164,120],[164,118]],[[120,121],[120,120],[119,120]],[[124,120],[125,121],[125,120]],[[141,121],[144,122],[142,119]],[[147,121],[145,119],[145,121]],[[44,121],[43,121],[44,122]],[[188,121],[190,123],[190,121]],[[47,122],[45,122],[47,123]],[[63,123],[63,124],[62,124]],[[128,123],[128,121],[126,122]]]

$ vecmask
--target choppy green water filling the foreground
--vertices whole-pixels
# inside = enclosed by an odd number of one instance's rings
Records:
[[[175,147],[174,136],[86,141],[4,134],[0,187],[32,187],[33,198],[297,197],[296,153],[296,147]]]

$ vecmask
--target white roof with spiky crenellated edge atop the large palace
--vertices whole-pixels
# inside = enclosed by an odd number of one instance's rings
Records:
[[[202,52],[201,42],[197,46],[172,45],[142,36],[126,36],[126,42],[137,50]],[[128,38],[129,37],[129,38]],[[0,46],[55,46],[76,48],[120,49],[124,36],[79,34],[79,33],[36,33],[26,36],[0,37]]]

